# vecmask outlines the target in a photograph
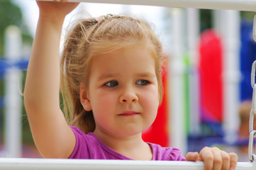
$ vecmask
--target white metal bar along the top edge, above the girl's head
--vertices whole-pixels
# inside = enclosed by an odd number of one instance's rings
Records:
[[[48,0],[49,1],[49,0]],[[52,0],[50,0],[52,1]],[[256,11],[255,0],[69,0],[106,4],[134,4],[180,8],[229,9]]]

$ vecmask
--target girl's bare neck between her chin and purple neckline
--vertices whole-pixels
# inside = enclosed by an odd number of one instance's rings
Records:
[[[117,136],[95,130],[96,135],[102,142],[114,151],[135,160],[151,160],[152,151],[150,146],[142,139],[142,133],[133,136]]]

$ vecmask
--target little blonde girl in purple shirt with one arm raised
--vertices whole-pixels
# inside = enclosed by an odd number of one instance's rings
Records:
[[[60,64],[62,23],[77,5],[38,1],[24,102],[43,157],[204,161],[205,169],[235,169],[237,155],[217,148],[185,158],[179,149],[143,142],[162,100],[163,62],[160,41],[145,21],[112,15],[79,21]]]

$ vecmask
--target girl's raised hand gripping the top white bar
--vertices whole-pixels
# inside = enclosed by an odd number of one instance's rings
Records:
[[[79,3],[60,1],[37,1],[40,17],[48,17],[52,19],[64,19]]]

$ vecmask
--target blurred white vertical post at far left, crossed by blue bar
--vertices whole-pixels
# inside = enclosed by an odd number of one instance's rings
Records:
[[[6,28],[5,55],[9,63],[21,56],[21,31],[16,26]],[[5,156],[21,157],[21,96],[18,93],[18,70],[10,67],[5,75]]]

